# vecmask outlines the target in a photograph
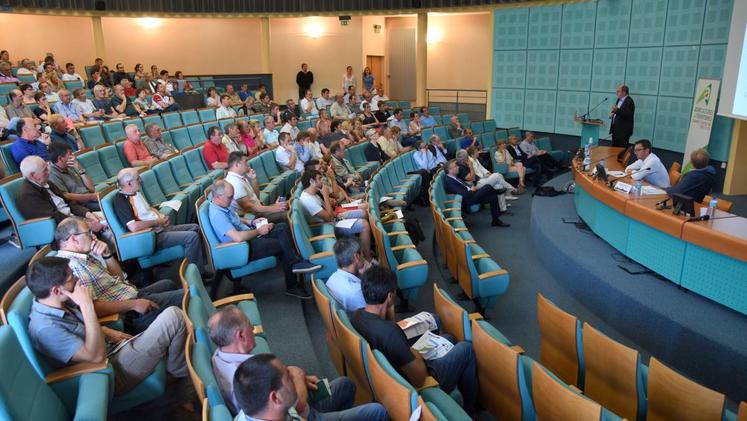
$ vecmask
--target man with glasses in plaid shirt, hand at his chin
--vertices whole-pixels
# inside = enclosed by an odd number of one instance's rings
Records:
[[[91,290],[96,316],[122,314],[128,330],[140,333],[167,308],[181,307],[184,291],[170,279],[140,290],[127,282],[114,253],[91,234],[85,220],[65,218],[57,225],[54,238],[59,249],[57,257],[68,259],[78,284]]]

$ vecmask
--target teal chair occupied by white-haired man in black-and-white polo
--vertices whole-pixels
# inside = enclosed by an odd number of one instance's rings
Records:
[[[153,230],[130,232],[122,225],[112,203],[116,193],[115,189],[102,193],[100,203],[109,229],[114,234],[119,261],[138,259],[141,268],[149,268],[184,257],[184,246],[176,245],[156,250],[156,234]]]

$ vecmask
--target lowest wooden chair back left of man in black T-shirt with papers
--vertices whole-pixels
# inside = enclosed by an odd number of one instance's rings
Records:
[[[386,372],[376,360],[371,347],[365,345],[368,361],[368,374],[376,401],[384,405],[389,418],[393,420],[410,419],[412,389],[403,385]]]

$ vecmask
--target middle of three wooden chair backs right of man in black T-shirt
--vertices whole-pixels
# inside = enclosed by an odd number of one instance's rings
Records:
[[[520,421],[519,353],[490,336],[476,320],[472,321],[472,347],[480,373],[481,404],[496,419]]]

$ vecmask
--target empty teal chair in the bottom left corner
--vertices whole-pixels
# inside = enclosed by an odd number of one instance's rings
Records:
[[[105,367],[105,364],[102,364]],[[77,399],[69,405],[41,379],[29,363],[10,326],[0,326],[0,418],[4,420],[106,420],[109,375],[80,374]]]

